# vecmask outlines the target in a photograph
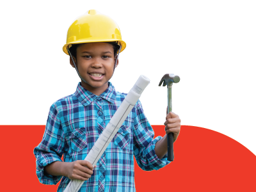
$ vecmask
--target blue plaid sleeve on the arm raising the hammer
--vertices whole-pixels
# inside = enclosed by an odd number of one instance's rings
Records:
[[[170,163],[170,161],[167,160],[167,154],[165,154],[162,159],[159,159],[155,152],[156,143],[161,140],[162,137],[157,136],[154,139],[154,130],[143,113],[140,100],[138,100],[135,108],[136,116],[134,118],[133,127],[133,150],[135,159],[142,170],[159,170]]]

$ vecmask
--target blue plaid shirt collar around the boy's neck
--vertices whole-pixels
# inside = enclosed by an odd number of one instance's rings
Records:
[[[81,82],[79,82],[76,88],[75,95],[77,99],[81,102],[81,104],[83,104],[84,106],[88,106],[88,104],[90,104],[93,100],[97,99],[98,97],[106,99],[113,104],[115,103],[116,99],[115,87],[111,82],[108,82],[108,88],[99,96],[83,88],[83,86],[81,86]]]

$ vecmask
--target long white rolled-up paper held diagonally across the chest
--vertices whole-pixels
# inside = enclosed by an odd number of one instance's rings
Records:
[[[95,142],[92,149],[84,159],[92,163],[93,167],[95,166],[95,164],[97,164],[100,156],[102,156],[109,143],[113,140],[116,132],[124,123],[125,118],[127,118],[132,108],[139,100],[141,93],[145,90],[149,83],[150,80],[147,77],[141,75],[130,90],[130,92],[126,95],[122,104],[116,110],[116,113],[113,115],[110,122],[108,123],[104,131],[102,131],[102,134],[100,134],[98,140]],[[70,180],[64,192],[77,192],[81,188],[83,183],[84,180]]]

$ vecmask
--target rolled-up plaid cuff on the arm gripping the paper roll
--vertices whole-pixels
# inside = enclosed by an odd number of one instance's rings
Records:
[[[61,161],[61,159],[55,154],[42,154],[41,152],[37,152],[36,156],[36,176],[39,182],[47,185],[56,185],[62,176],[48,175],[44,172],[44,167],[55,161]]]

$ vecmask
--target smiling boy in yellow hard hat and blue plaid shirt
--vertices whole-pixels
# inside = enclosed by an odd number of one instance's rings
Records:
[[[135,191],[134,162],[143,170],[158,170],[167,161],[167,138],[154,138],[154,131],[136,103],[97,166],[84,161],[125,93],[115,91],[109,79],[125,49],[116,23],[95,10],[77,19],[68,29],[63,51],[81,78],[76,92],[52,104],[42,142],[35,148],[36,175],[44,184],[57,184],[64,191],[70,179],[86,180],[79,191]],[[177,140],[180,119],[169,113],[166,134]],[[64,162],[61,161],[63,155]]]

